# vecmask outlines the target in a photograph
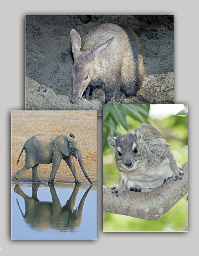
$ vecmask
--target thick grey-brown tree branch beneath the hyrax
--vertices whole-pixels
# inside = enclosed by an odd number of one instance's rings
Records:
[[[124,190],[118,197],[103,186],[103,210],[140,219],[159,219],[188,192],[188,162],[182,165],[182,179],[173,176],[151,192]]]

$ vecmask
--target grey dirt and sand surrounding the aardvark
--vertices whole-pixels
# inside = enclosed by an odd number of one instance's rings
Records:
[[[27,15],[26,110],[97,110],[105,101],[101,89],[93,100],[69,103],[73,55],[69,34],[76,29],[83,39],[96,26],[118,23],[140,38],[146,79],[135,97],[122,103],[173,103],[173,16],[149,15]]]

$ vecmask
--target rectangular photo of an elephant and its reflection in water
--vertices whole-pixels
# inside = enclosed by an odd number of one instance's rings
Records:
[[[97,111],[11,119],[11,238],[97,239]]]

